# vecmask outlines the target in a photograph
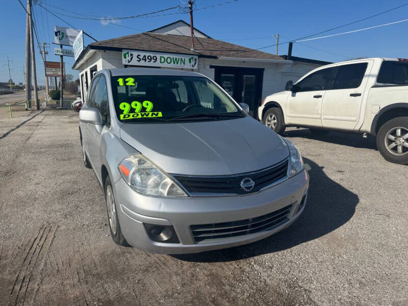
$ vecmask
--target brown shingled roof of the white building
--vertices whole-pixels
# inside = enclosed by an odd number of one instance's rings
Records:
[[[158,34],[144,32],[127,35],[113,39],[93,42],[91,49],[133,49],[180,54],[194,54],[199,57],[236,57],[252,59],[283,60],[282,57],[246,48],[229,42],[213,38],[194,38],[194,49],[191,51],[191,38],[189,36]]]

